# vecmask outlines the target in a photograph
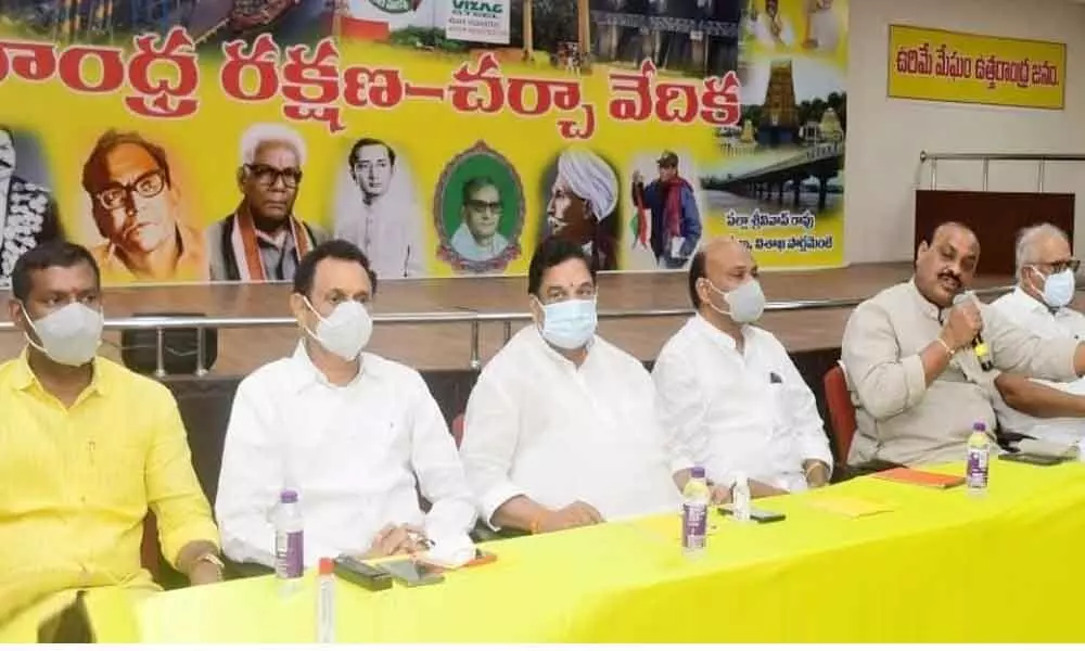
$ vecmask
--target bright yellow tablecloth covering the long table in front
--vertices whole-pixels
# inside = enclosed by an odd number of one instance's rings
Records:
[[[891,510],[848,518],[815,506],[825,496]],[[995,462],[982,498],[864,477],[758,506],[787,520],[714,516],[695,560],[681,554],[678,516],[664,516],[496,542],[496,563],[439,585],[371,593],[339,582],[336,641],[1085,640],[1085,463]],[[312,577],[288,599],[265,577],[135,608],[143,641],[316,639]],[[103,641],[126,635],[98,628]]]

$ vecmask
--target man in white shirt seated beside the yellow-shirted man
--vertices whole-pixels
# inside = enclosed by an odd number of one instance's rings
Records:
[[[376,278],[355,245],[303,258],[290,306],[303,332],[292,357],[238,387],[216,512],[226,554],[272,564],[269,515],[284,488],[305,518],[305,564],[382,557],[467,536],[475,510],[448,427],[422,378],[363,353]],[[416,492],[433,507],[423,514]]]

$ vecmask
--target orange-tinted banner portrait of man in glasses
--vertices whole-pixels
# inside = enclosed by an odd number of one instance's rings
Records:
[[[199,231],[182,219],[166,151],[136,132],[106,131],[82,167],[82,188],[103,241],[91,246],[114,281],[194,281],[207,277]]]

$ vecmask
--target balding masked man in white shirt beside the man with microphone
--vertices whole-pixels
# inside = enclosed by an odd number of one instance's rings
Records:
[[[705,469],[716,499],[737,473],[754,497],[824,486],[832,454],[814,394],[783,345],[752,323],[765,309],[757,263],[732,238],[693,256],[697,315],[663,346],[652,379],[663,424]]]

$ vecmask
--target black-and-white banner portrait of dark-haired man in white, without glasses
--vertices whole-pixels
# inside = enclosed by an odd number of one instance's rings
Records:
[[[357,245],[379,278],[425,276],[422,213],[396,151],[361,138],[350,148],[347,166],[355,187],[339,197],[335,237]]]

